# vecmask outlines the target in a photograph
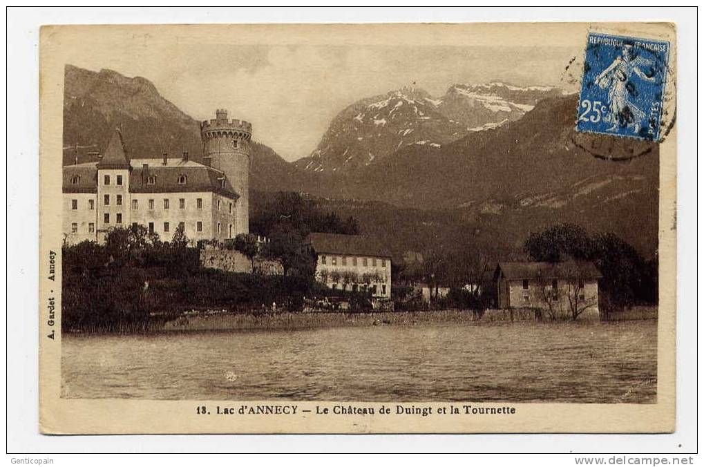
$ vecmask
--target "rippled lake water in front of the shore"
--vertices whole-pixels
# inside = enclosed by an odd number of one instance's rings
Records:
[[[657,321],[64,335],[63,397],[655,402]]]

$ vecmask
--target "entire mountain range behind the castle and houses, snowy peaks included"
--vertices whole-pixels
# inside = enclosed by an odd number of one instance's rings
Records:
[[[578,134],[576,103],[557,88],[500,82],[453,85],[438,98],[413,87],[371,96],[344,108],[318,148],[294,163],[253,142],[252,194],[302,192],[366,220],[367,232],[403,232],[391,239],[399,254],[452,242],[460,232],[468,235],[463,242],[501,237],[518,247],[529,232],[576,222],[615,232],[653,256],[658,145]],[[202,157],[199,122],[151,82],[66,66],[64,164],[94,160],[115,127],[134,156]],[[590,147],[637,157],[610,161]]]

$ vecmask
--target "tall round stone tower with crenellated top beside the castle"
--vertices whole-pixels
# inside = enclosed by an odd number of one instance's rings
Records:
[[[218,108],[215,120],[201,123],[203,158],[206,164],[222,170],[230,180],[237,199],[237,220],[239,233],[249,233],[249,140],[252,125],[244,120],[227,120],[227,111]]]

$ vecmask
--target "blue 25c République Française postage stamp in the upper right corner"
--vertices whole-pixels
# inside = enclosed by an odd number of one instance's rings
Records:
[[[589,33],[577,131],[658,141],[670,43]]]

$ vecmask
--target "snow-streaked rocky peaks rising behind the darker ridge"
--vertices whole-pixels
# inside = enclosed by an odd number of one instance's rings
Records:
[[[467,135],[521,118],[554,87],[453,85],[434,98],[417,87],[372,96],[341,111],[313,154],[296,166],[314,172],[353,172],[413,146],[433,151]]]

